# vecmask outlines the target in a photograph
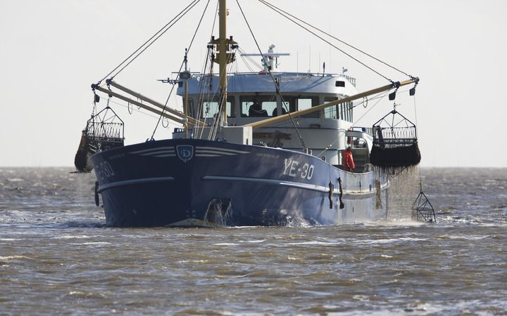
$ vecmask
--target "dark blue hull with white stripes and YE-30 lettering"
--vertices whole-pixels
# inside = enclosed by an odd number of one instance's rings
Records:
[[[105,150],[92,162],[111,226],[335,225],[387,215],[385,190],[376,189],[387,180],[290,150],[158,140]]]

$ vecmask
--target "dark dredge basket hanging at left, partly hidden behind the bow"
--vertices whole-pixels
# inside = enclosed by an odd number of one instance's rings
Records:
[[[82,131],[80,145],[74,158],[77,171],[90,172],[93,169],[92,156],[101,150],[123,146],[123,121],[107,106],[87,121]]]

